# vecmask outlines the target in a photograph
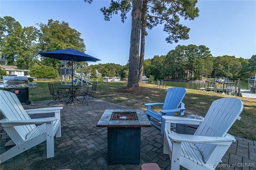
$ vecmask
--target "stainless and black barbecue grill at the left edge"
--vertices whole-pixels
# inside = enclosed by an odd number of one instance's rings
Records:
[[[20,103],[30,105],[29,87],[36,87],[36,83],[29,83],[26,76],[4,76],[3,84],[0,87],[16,94]]]

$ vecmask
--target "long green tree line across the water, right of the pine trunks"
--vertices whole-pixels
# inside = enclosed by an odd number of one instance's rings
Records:
[[[154,75],[155,79],[247,79],[256,74],[256,55],[250,59],[228,55],[213,57],[204,45],[178,45],[165,56],[145,60],[144,73],[147,77]]]

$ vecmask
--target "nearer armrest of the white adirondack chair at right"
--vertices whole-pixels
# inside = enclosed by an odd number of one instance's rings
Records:
[[[227,134],[226,137],[205,137],[198,135],[170,133],[168,137],[175,142],[207,143],[213,145],[230,145],[230,142],[236,141],[235,138],[230,134]]]

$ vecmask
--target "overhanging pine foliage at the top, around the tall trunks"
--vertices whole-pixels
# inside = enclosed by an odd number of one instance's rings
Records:
[[[169,35],[166,38],[167,43],[177,43],[180,39],[188,39],[189,28],[180,23],[180,19],[194,20],[199,14],[197,1],[154,1],[143,0],[146,3],[146,28],[152,29],[158,24],[164,24],[164,30]],[[142,5],[142,4],[141,4]],[[101,12],[104,19],[109,21],[114,14],[120,14],[121,21],[127,19],[127,14],[132,9],[132,1],[111,0],[109,7],[102,7]]]

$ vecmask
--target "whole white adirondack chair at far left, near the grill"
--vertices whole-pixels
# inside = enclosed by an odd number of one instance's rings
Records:
[[[15,145],[0,155],[0,163],[21,154],[46,140],[47,158],[54,157],[54,135],[61,137],[60,109],[62,107],[23,109],[19,99],[9,91],[0,90],[0,121],[11,138],[5,146]],[[55,113],[55,117],[31,119],[28,114]],[[35,124],[40,124],[36,126]]]

